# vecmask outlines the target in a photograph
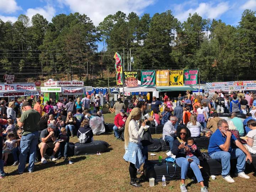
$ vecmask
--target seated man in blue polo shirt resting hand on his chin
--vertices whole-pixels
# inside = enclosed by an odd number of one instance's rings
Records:
[[[236,176],[247,178],[250,177],[244,173],[247,159],[252,162],[250,153],[245,149],[235,136],[228,130],[228,122],[221,119],[218,124],[218,129],[210,137],[208,153],[212,159],[221,161],[222,177],[229,183],[234,183],[233,178],[229,176],[230,159],[237,159]],[[232,149],[230,143],[233,142],[237,149]]]

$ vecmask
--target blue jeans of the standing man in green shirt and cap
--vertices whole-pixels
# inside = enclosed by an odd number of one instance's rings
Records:
[[[20,164],[18,165],[18,171],[24,172],[27,154],[29,151],[29,163],[28,163],[28,171],[34,170],[34,160],[36,159],[36,146],[38,144],[38,131],[33,133],[28,133],[26,135],[22,135],[20,142]]]

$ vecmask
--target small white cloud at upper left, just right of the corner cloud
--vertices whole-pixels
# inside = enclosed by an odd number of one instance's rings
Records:
[[[52,7],[52,6],[44,6],[42,7],[36,7],[34,9],[30,8],[27,9],[26,14],[30,19],[36,15],[36,14],[40,14],[42,15],[44,18],[47,19],[47,21],[52,21],[52,18],[55,16],[56,10]]]

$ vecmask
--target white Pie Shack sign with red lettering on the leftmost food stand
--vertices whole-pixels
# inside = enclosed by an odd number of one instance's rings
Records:
[[[34,83],[0,84],[0,92],[36,91]]]

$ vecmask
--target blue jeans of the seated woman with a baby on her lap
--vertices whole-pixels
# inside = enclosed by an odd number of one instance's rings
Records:
[[[176,164],[179,167],[181,167],[181,179],[185,180],[186,175],[187,175],[188,167],[190,166],[191,169],[194,172],[194,175],[197,178],[197,182],[199,183],[199,182],[203,181],[201,171],[200,171],[200,169],[199,169],[199,167],[198,167],[198,165],[195,161],[189,163],[186,158],[181,157],[181,158],[176,159]]]

